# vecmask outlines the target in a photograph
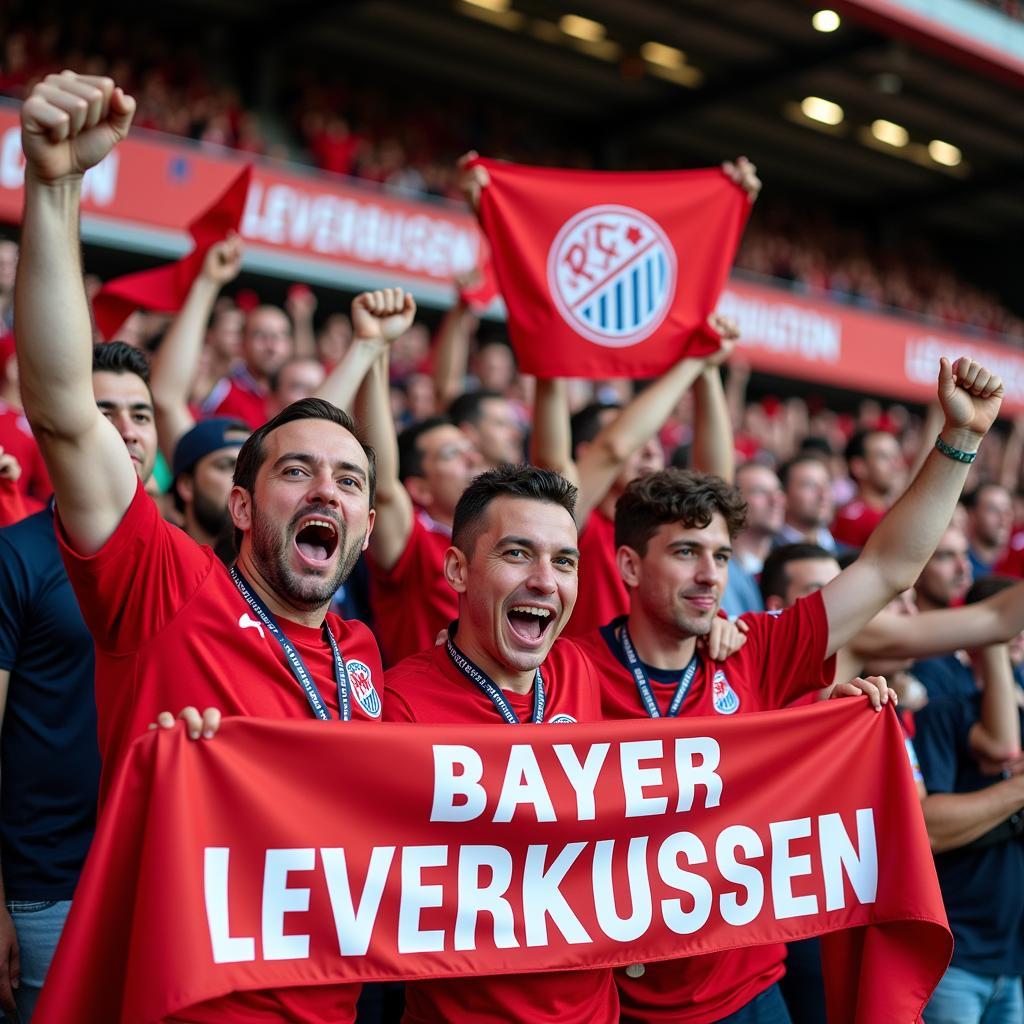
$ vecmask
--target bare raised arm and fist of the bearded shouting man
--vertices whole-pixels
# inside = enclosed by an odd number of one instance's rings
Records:
[[[14,290],[25,412],[60,519],[83,554],[97,551],[137,485],[117,430],[92,392],[92,324],[82,285],[82,175],[128,133],[135,101],[109,78],[47,75],[22,106],[25,212]]]

